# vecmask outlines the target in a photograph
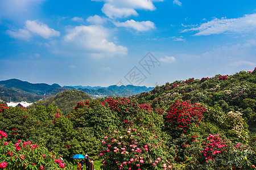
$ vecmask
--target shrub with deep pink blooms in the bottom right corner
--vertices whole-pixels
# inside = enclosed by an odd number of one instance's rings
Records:
[[[185,157],[185,169],[250,169],[256,163],[252,148],[241,143],[233,146],[219,134],[209,134],[203,142],[193,141],[187,147]]]

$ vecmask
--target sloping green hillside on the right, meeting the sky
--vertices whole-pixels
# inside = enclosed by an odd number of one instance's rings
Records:
[[[255,131],[256,71],[240,71],[233,75],[217,74],[212,78],[167,82],[150,92],[132,96],[138,103],[151,104],[154,108],[165,108],[177,100],[220,107],[223,112],[240,111]]]

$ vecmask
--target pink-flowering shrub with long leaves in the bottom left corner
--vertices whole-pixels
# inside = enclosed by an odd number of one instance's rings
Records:
[[[71,168],[67,162],[58,161],[56,164],[55,153],[49,152],[45,147],[21,140],[14,145],[12,142],[5,141],[5,138],[7,138],[7,134],[0,131],[0,168],[2,169]]]

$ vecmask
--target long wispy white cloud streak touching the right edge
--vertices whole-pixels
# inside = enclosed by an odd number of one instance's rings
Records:
[[[220,34],[225,32],[242,33],[256,29],[256,14],[245,15],[241,18],[226,19],[214,18],[210,22],[203,23],[199,27],[184,29],[186,31],[199,31],[195,36]]]

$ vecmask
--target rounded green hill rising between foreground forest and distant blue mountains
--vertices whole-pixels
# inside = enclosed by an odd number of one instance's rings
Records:
[[[52,104],[53,106],[57,106],[61,112],[67,113],[71,111],[73,107],[75,107],[77,102],[84,100],[91,101],[92,97],[82,91],[69,90],[60,92],[56,96],[51,96],[46,100],[36,101],[28,108],[36,108],[37,105],[47,107],[49,104]]]

